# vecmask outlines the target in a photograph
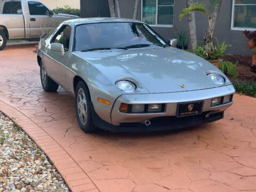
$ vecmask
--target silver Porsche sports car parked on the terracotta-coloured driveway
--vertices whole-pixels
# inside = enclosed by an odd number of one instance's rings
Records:
[[[181,129],[223,118],[235,92],[229,79],[169,43],[137,20],[65,21],[38,44],[43,89],[60,85],[74,95],[85,132]]]

